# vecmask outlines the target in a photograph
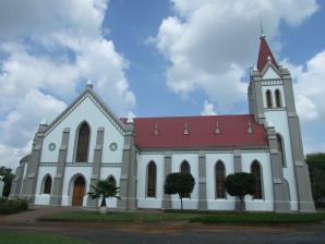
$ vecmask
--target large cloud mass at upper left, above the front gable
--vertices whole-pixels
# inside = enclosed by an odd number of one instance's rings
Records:
[[[12,156],[7,161],[22,156],[39,121],[53,119],[89,78],[118,114],[134,107],[129,62],[101,26],[107,9],[107,0],[0,2],[0,145],[1,155]]]

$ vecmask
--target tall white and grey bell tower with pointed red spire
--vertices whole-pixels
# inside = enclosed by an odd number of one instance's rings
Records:
[[[273,168],[275,209],[314,211],[308,166],[304,161],[299,118],[290,72],[278,65],[264,35],[261,36],[257,69],[250,70],[250,113],[264,124]],[[289,210],[290,210],[289,209]]]

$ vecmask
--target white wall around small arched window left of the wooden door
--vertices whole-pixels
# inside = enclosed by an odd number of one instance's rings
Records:
[[[44,194],[44,180],[46,175],[50,175],[52,180],[51,191],[53,190],[55,175],[57,172],[56,167],[39,167],[38,179],[35,193],[35,205],[49,205],[50,194]]]

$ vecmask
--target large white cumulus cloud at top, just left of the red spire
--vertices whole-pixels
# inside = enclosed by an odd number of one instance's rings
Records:
[[[182,97],[203,89],[220,111],[245,101],[245,70],[257,58],[258,23],[275,41],[280,21],[299,25],[316,10],[314,0],[171,0],[156,47],[170,65],[167,86]],[[280,8],[279,8],[280,5]]]

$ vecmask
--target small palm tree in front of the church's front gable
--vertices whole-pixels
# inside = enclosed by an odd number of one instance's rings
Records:
[[[120,199],[118,196],[119,192],[120,187],[117,187],[116,184],[109,182],[108,180],[99,180],[96,181],[95,184],[91,185],[91,192],[88,192],[88,196],[92,199],[101,198],[100,207],[106,207],[107,197]]]

